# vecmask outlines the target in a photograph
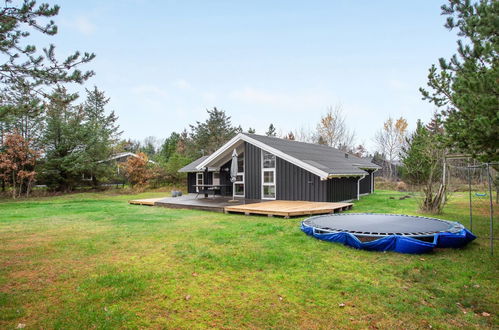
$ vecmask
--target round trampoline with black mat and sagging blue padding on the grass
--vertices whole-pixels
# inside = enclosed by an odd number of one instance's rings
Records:
[[[400,214],[328,214],[305,219],[301,229],[315,238],[371,251],[426,253],[461,247],[476,237],[459,222]]]

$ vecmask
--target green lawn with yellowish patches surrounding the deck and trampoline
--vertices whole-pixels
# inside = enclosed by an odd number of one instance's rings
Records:
[[[464,249],[402,255],[316,240],[301,219],[126,203],[160,196],[0,202],[0,328],[499,327],[486,218]],[[390,196],[353,211],[418,214]],[[454,195],[440,217],[467,212]]]

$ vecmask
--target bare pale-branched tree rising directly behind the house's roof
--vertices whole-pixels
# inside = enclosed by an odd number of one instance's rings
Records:
[[[317,125],[317,132],[325,145],[344,151],[351,149],[355,140],[355,133],[350,132],[346,126],[341,105],[328,108]]]

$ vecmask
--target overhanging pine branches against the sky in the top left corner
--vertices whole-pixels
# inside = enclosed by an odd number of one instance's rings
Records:
[[[57,34],[54,21],[42,21],[57,16],[59,6],[42,3],[36,5],[34,0],[24,0],[16,6],[12,0],[6,0],[0,7],[0,53],[5,60],[0,63],[0,85],[8,88],[12,85],[22,86],[40,95],[47,96],[42,87],[58,83],[82,83],[90,78],[93,71],[82,72],[76,67],[90,62],[95,55],[74,52],[65,60],[55,56],[55,46],[44,48],[42,54],[35,45],[27,43],[30,29],[47,36]],[[6,109],[0,108],[0,112]]]

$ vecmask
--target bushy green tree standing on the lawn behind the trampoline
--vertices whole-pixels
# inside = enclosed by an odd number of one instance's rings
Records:
[[[441,143],[438,120],[433,123],[432,126],[437,128],[432,131],[418,121],[416,130],[407,138],[401,153],[402,176],[408,183],[421,187],[421,210],[439,213],[446,201],[446,187],[442,182],[446,150]]]

